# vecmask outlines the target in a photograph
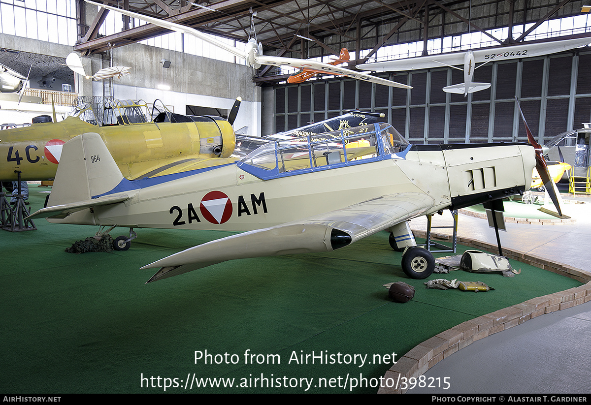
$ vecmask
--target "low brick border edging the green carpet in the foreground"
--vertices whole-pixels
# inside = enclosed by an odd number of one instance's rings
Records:
[[[426,231],[413,230],[415,236],[426,237]],[[451,241],[452,237],[447,235],[431,234],[433,239],[441,241]],[[498,247],[491,243],[478,240],[470,240],[465,237],[457,237],[457,243],[464,246],[475,247],[489,252],[495,252]],[[434,337],[418,344],[407,354],[402,356],[396,364],[392,365],[384,374],[384,380],[399,381],[400,377],[418,378],[427,372],[439,361],[449,357],[458,350],[476,342],[482,338],[496,332],[504,331],[522,324],[525,321],[543,315],[560,311],[562,309],[572,308],[591,301],[591,272],[577,269],[568,264],[554,263],[535,254],[520,252],[515,249],[503,248],[505,257],[518,260],[525,264],[531,264],[540,269],[557,273],[579,282],[585,283],[579,287],[569,288],[544,295],[537,298],[528,299],[525,302],[511,305],[507,308],[478,316],[470,321],[462,322],[453,328],[447,329]],[[400,388],[379,387],[378,394],[402,394],[407,390]]]

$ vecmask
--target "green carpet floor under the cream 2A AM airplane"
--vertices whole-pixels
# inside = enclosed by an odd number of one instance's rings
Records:
[[[43,190],[31,186],[33,210]],[[425,289],[404,275],[385,232],[332,253],[235,260],[145,285],[155,270],[139,267],[229,233],[137,229],[126,252],[70,254],[95,227],[35,225],[0,231],[4,393],[375,393],[392,353],[398,360],[463,321],[580,285],[512,262],[522,270],[512,278],[429,277],[480,280],[491,292]],[[400,280],[417,290],[408,303],[382,286]],[[313,354],[323,361],[306,364]]]

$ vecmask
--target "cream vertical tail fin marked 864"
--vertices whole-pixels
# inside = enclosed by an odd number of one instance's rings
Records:
[[[64,143],[48,206],[91,200],[124,179],[98,133],[83,133]]]

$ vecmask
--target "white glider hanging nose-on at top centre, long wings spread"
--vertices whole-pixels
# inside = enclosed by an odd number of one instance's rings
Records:
[[[193,35],[194,37],[200,38],[200,40],[202,41],[206,41],[209,44],[220,47],[223,50],[226,50],[229,53],[246,60],[246,63],[248,63],[249,66],[252,66],[257,69],[261,67],[261,65],[291,66],[301,69],[318,70],[322,71],[323,73],[339,74],[342,76],[353,77],[354,79],[371,81],[372,83],[377,84],[384,84],[385,86],[401,87],[402,89],[412,89],[412,87],[407,86],[407,84],[397,83],[395,81],[382,79],[381,77],[371,76],[371,74],[365,74],[343,67],[332,66],[327,63],[312,60],[263,55],[262,44],[259,43],[257,45],[256,40],[254,38],[248,40],[248,43],[246,43],[246,49],[242,51],[236,47],[233,47],[232,45],[225,44],[222,41],[218,41],[215,38],[210,37],[209,35],[203,34],[203,32],[197,31],[194,28],[187,27],[186,25],[177,24],[176,22],[164,21],[163,19],[148,17],[147,15],[138,14],[121,8],[111,7],[106,4],[100,4],[89,0],[85,1],[87,3],[94,4],[99,7],[120,12],[121,14],[128,15],[129,17],[138,18],[142,21],[150,22],[151,24],[158,25],[159,27],[168,28],[168,30],[171,31],[183,32],[185,34]]]

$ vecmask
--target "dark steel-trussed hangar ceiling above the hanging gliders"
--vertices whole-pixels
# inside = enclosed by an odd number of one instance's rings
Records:
[[[100,0],[97,0],[100,2]],[[349,51],[371,50],[396,43],[440,38],[446,35],[514,27],[551,18],[580,15],[576,0],[107,0],[105,4],[189,25],[204,32],[248,41],[254,27],[266,54],[309,58]],[[74,49],[100,53],[169,32],[141,25],[100,37],[98,30],[108,11],[100,9],[87,21],[88,5],[77,0],[79,42]],[[89,18],[90,19],[90,18]],[[129,26],[129,20],[124,18]],[[527,34],[496,38],[497,43],[517,42]],[[425,47],[426,49],[426,47]],[[355,60],[350,67],[363,63]],[[271,68],[262,68],[257,81],[275,80]]]

